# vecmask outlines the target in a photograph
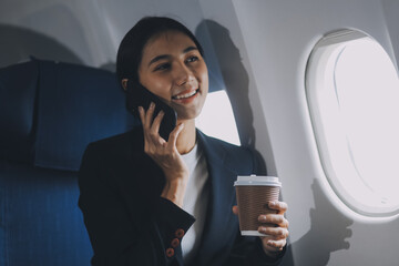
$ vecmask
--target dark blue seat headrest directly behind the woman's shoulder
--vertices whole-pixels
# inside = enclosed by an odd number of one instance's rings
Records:
[[[75,171],[85,146],[139,124],[125,109],[115,74],[39,61],[34,165]]]

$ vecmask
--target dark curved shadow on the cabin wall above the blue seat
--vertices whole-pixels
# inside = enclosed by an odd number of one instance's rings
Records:
[[[43,60],[83,64],[82,60],[71,50],[42,33],[0,24],[0,68],[25,61],[31,55]]]

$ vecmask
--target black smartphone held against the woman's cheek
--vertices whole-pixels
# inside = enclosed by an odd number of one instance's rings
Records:
[[[154,117],[164,111],[164,116],[160,125],[160,135],[167,141],[171,132],[176,127],[177,114],[170,105],[167,105],[163,100],[156,96],[154,93],[150,92],[141,84],[134,86],[133,82],[127,81],[126,88],[129,99],[129,109],[133,112],[133,115],[140,119],[139,106],[142,106],[144,110],[149,110],[150,103],[155,103]]]

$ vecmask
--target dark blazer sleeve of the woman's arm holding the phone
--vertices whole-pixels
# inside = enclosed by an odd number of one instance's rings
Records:
[[[171,243],[181,241],[176,232],[186,232],[194,217],[163,197],[151,211],[145,202],[135,202],[132,214],[104,161],[101,151],[89,145],[79,173],[79,206],[94,250],[92,264],[170,265],[175,259]]]

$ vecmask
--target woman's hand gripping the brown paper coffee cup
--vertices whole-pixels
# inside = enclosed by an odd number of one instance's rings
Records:
[[[276,214],[260,214],[258,221],[264,225],[258,227],[258,232],[267,235],[260,236],[264,252],[270,257],[276,257],[287,244],[288,221],[284,217],[284,213],[288,205],[284,202],[269,202],[268,207],[275,209]],[[238,214],[237,206],[233,207],[233,213]]]

